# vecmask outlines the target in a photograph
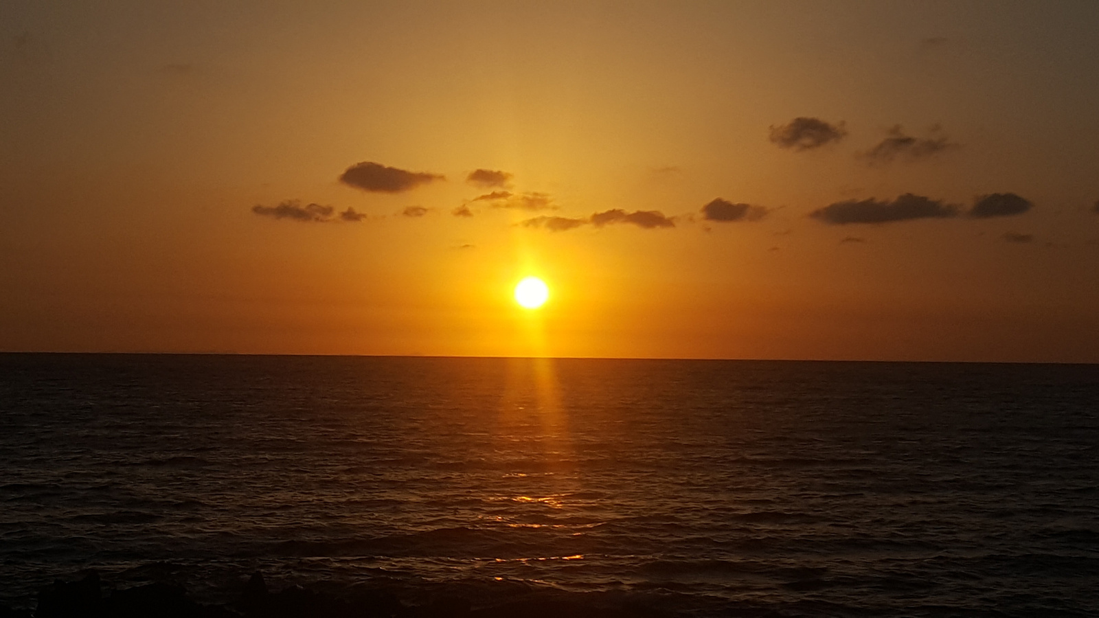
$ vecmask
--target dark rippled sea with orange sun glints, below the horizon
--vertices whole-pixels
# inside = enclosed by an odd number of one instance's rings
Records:
[[[1099,616],[1099,366],[0,354],[0,603]]]

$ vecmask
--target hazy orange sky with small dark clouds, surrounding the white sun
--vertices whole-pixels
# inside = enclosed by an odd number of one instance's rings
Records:
[[[1097,30],[2,2],[0,350],[1099,362]]]

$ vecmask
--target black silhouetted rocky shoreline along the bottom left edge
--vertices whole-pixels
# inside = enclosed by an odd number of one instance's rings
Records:
[[[458,596],[439,596],[408,605],[392,593],[358,587],[342,594],[302,586],[268,588],[254,573],[238,597],[225,604],[203,604],[182,586],[154,582],[123,589],[104,589],[98,573],[75,582],[55,581],[37,594],[34,610],[0,605],[0,618],[665,618],[643,607],[615,607],[532,595],[499,605],[475,607]]]

